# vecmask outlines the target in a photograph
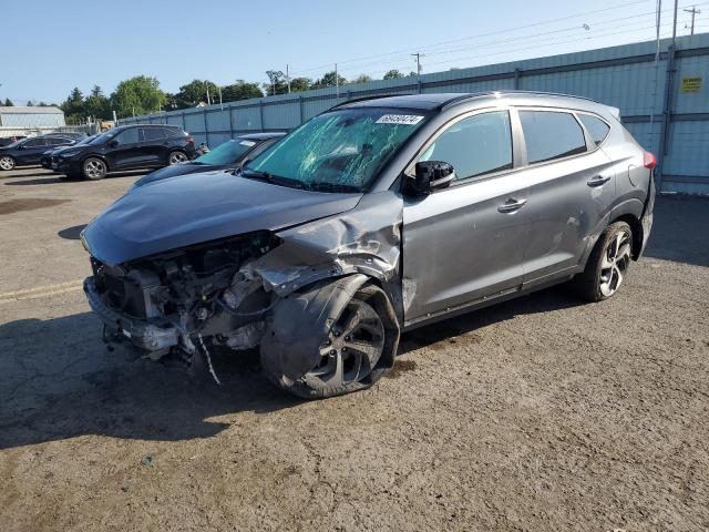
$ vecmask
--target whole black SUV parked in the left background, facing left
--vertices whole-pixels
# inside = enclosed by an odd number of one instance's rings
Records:
[[[109,172],[162,167],[189,161],[195,141],[176,125],[124,125],[100,134],[52,160],[68,177],[101,180]]]

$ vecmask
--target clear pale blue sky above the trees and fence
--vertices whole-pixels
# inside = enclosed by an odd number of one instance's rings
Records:
[[[109,94],[133,75],[177,92],[191,80],[264,83],[267,70],[317,79],[335,69],[374,79],[553,55],[655,38],[657,0],[0,0],[0,99],[61,103],[78,86]],[[670,0],[661,34],[671,34]],[[709,31],[709,0],[679,1],[678,34],[697,6]]]

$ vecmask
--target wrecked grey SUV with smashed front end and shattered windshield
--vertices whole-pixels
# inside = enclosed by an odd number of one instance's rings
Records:
[[[151,358],[216,379],[214,349],[258,347],[280,388],[337,396],[380,379],[402,330],[564,282],[612,297],[649,236],[654,166],[585,99],[352,101],[240,171],[121,197],[82,235],[84,289]]]

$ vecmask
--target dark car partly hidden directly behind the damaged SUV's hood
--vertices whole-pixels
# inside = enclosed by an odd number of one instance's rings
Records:
[[[209,172],[213,170],[230,170],[242,166],[268,146],[282,139],[285,133],[250,133],[240,135],[232,141],[219,144],[217,147],[194,161],[184,164],[167,166],[156,170],[137,180],[131,190],[155,181],[166,180],[176,175]]]

